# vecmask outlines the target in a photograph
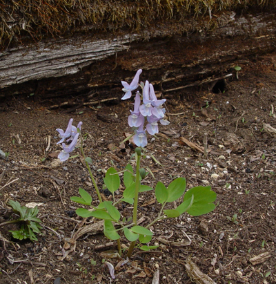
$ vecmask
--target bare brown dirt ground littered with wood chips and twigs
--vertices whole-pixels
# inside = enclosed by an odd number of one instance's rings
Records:
[[[81,223],[70,196],[78,196],[79,187],[94,200],[97,196],[81,158],[57,162],[61,148],[55,129],[66,129],[71,117],[74,125],[83,122],[83,133],[88,133],[85,151],[101,188],[108,167],[124,169],[134,151],[128,143],[118,148],[124,133],[130,132],[127,117],[132,101],[74,113],[50,111],[49,102],[33,102],[32,96],[1,102],[0,149],[9,155],[0,159],[0,223],[17,218],[8,200],[21,205],[35,202],[43,235],[35,242],[19,241],[9,232],[14,225],[0,227],[0,283],[152,283],[157,271],[159,281],[153,283],[211,283],[188,276],[189,260],[215,283],[276,283],[276,54],[236,64],[242,67],[239,79],[235,75],[228,79],[222,93],[186,89],[168,97],[170,125],[162,126],[161,134],[150,140],[143,160],[155,176],[145,181],[152,187],[158,180],[168,184],[178,176],[186,178],[188,189],[210,184],[217,193],[215,211],[157,223],[150,245],[159,248],[135,250],[130,261],[115,270],[115,280],[103,260],[114,266],[121,261],[117,254],[106,253],[116,250],[117,243],[101,231],[80,236],[75,250],[68,243],[79,227],[94,223],[92,219]],[[193,144],[179,140],[183,137],[203,147],[204,133],[207,158]],[[128,205],[120,209],[123,216],[130,216]],[[158,209],[152,192],[141,194],[139,218],[148,223]],[[127,240],[122,243],[128,245]]]

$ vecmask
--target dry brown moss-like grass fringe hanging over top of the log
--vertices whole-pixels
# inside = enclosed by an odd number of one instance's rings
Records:
[[[0,42],[6,48],[32,38],[73,32],[141,32],[174,23],[175,32],[195,29],[193,19],[247,7],[275,8],[276,0],[0,0]]]

